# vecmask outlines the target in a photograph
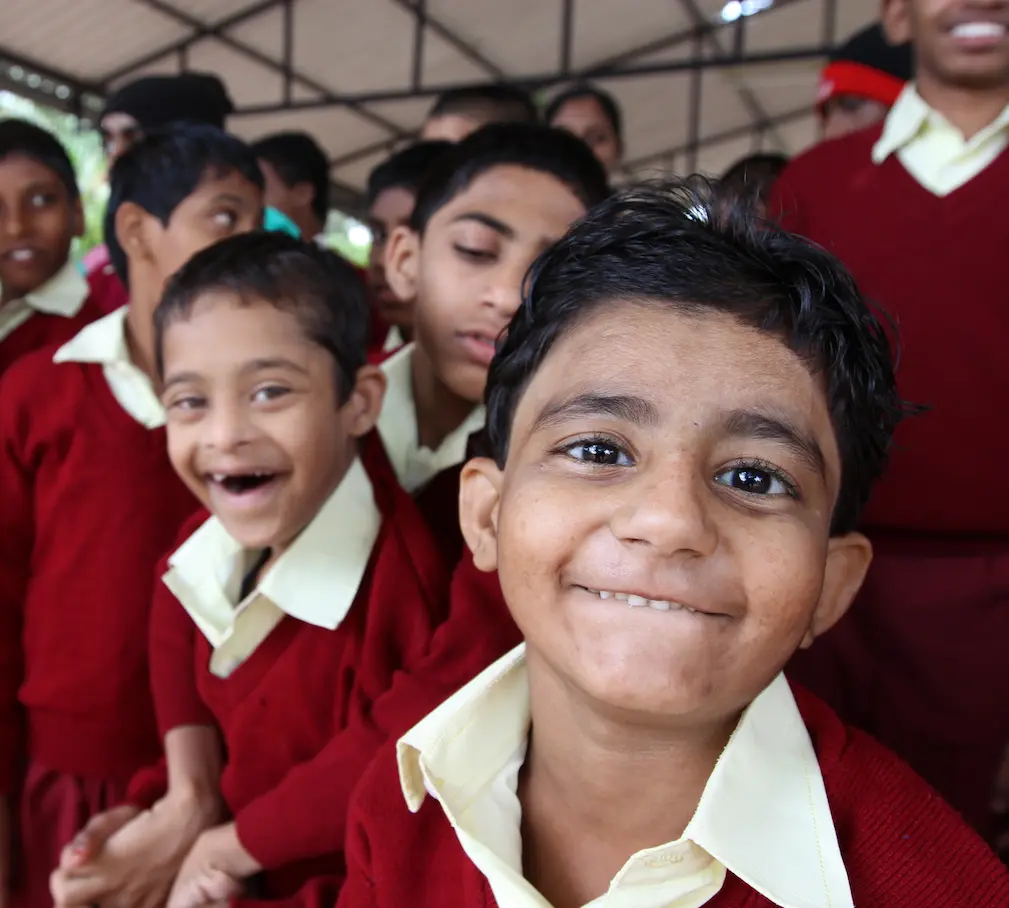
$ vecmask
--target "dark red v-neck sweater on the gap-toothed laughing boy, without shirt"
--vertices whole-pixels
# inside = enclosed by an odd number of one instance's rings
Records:
[[[291,897],[310,880],[335,899],[352,788],[388,736],[433,705],[410,684],[391,704],[379,704],[403,687],[399,676],[424,664],[448,612],[448,570],[377,435],[362,444],[361,460],[382,526],[357,597],[336,630],[286,617],[222,679],[210,673],[212,648],[183,605],[163,583],[154,595],[158,725],[162,733],[186,724],[220,729],[227,752],[221,792],[242,844],[266,870],[271,899]],[[183,538],[207,517],[191,521]],[[156,797],[152,784],[150,773],[139,776],[134,798]]]

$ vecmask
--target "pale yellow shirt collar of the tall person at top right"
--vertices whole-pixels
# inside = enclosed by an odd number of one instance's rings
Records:
[[[940,113],[908,85],[891,108],[883,134],[873,146],[873,162],[896,154],[907,172],[935,196],[948,196],[970,183],[1009,144],[1009,107],[988,126],[965,139]]]

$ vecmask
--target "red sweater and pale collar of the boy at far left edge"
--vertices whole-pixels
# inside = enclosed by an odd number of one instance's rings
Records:
[[[69,341],[100,318],[102,296],[68,261],[37,290],[0,306],[0,375],[26,353]]]

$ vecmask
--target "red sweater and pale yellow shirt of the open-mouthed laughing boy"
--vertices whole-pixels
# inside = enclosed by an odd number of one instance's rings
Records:
[[[259,894],[288,899],[312,883],[332,904],[351,789],[381,744],[433,705],[397,679],[428,654],[448,571],[374,435],[247,594],[242,577],[262,553],[216,518],[195,523],[154,594],[158,727],[220,729],[221,794],[264,868]],[[155,776],[138,776],[131,798],[163,794]]]

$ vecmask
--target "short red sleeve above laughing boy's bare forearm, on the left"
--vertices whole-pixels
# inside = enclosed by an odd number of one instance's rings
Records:
[[[217,726],[196,686],[196,626],[161,581],[166,569],[165,559],[154,581],[149,631],[150,686],[162,737],[182,725]]]

